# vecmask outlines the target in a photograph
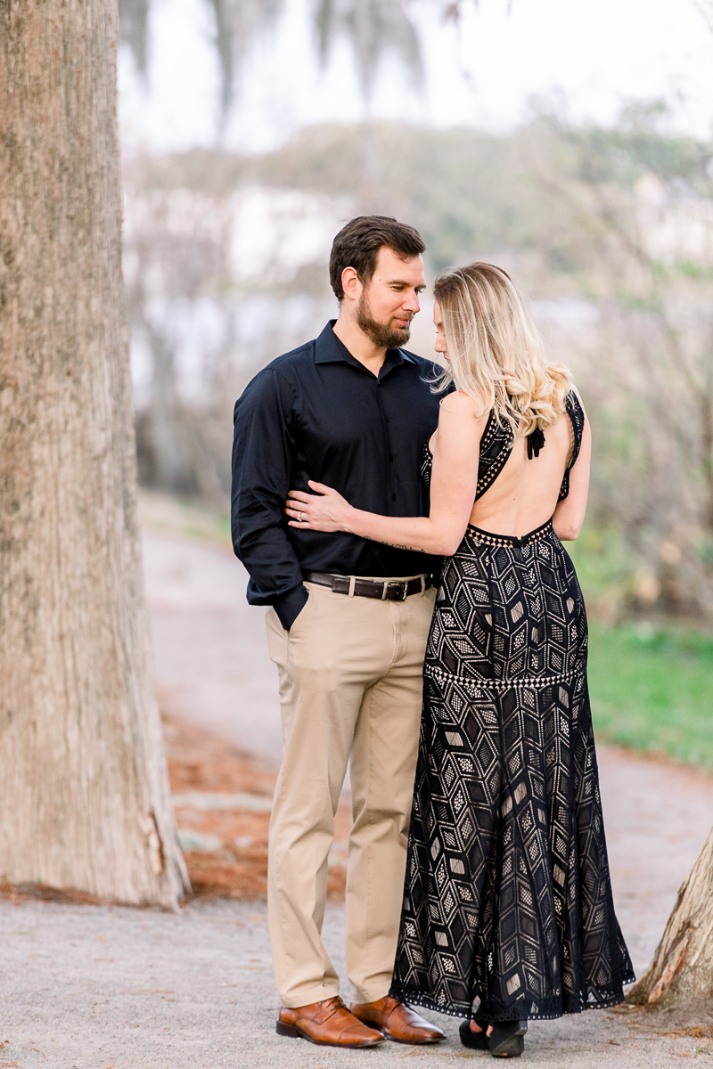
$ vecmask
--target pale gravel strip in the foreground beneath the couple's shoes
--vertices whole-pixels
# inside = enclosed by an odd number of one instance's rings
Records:
[[[342,975],[343,917],[342,907],[330,907],[325,924]],[[192,904],[175,916],[3,902],[0,945],[0,1066],[436,1069],[489,1057],[460,1045],[452,1018],[438,1019],[448,1042],[431,1050],[388,1043],[342,1052],[277,1036],[262,904]],[[671,1069],[680,1057],[709,1050],[692,1036],[662,1036],[638,1018],[592,1011],[536,1022],[520,1064]]]

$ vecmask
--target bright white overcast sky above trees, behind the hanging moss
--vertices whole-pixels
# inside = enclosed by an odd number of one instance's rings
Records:
[[[372,113],[438,126],[503,129],[533,97],[565,102],[573,119],[611,122],[632,99],[665,97],[675,124],[713,129],[713,0],[463,0],[445,24],[441,4],[412,0],[427,71],[419,94],[394,61],[378,78]],[[120,110],[127,149],[175,151],[222,143],[260,152],[300,126],[365,115],[346,44],[326,71],[316,61],[310,0],[285,0],[276,31],[255,43],[238,103],[219,124],[215,27],[204,0],[153,0],[149,91],[120,59]],[[710,22],[706,18],[710,13]]]

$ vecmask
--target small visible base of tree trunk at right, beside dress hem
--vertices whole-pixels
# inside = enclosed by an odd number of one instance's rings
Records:
[[[679,892],[673,912],[645,976],[626,995],[662,1009],[713,993],[713,832]]]

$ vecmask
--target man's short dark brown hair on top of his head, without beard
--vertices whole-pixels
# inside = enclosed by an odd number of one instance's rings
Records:
[[[358,215],[339,231],[329,257],[329,281],[338,300],[344,299],[344,268],[354,267],[367,285],[374,277],[378,250],[384,246],[402,260],[412,260],[425,250],[419,232],[390,215]]]

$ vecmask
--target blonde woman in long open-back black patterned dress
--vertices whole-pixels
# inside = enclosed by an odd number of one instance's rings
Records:
[[[587,618],[563,540],[584,521],[591,436],[509,276],[436,282],[449,365],[424,456],[427,517],[293,492],[294,525],[445,557],[391,994],[465,1017],[517,1056],[530,1018],[614,1006],[634,979],[614,912],[587,692]],[[474,1009],[475,1008],[475,1009]]]

